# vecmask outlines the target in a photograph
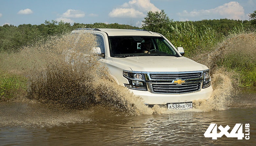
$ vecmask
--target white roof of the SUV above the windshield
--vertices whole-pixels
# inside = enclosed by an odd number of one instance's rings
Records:
[[[79,28],[72,32],[98,32],[102,31],[108,34],[108,36],[156,36],[160,37],[161,35],[156,32],[151,32],[143,29],[113,29],[113,28]]]

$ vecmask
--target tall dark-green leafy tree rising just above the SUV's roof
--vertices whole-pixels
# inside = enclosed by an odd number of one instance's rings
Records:
[[[142,20],[142,28],[153,32],[159,32],[165,34],[166,30],[169,29],[169,25],[172,24],[173,20],[165,14],[164,10],[159,11],[148,11],[147,16]]]

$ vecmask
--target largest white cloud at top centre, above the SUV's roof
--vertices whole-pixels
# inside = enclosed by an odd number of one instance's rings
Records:
[[[160,11],[160,9],[150,3],[150,0],[131,0],[119,6],[119,8],[113,9],[109,13],[109,16],[119,18],[142,18],[146,16],[148,11]]]

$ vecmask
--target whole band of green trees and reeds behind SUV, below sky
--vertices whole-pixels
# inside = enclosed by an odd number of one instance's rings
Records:
[[[254,14],[254,13],[253,13]],[[254,15],[252,14],[252,18]],[[175,46],[186,48],[186,54],[193,54],[193,49],[204,50],[205,46],[211,47],[216,42],[221,41],[234,29],[241,27],[249,28],[251,21],[239,20],[202,20],[195,22],[173,22],[162,10],[161,12],[148,12],[148,16],[142,22],[142,29],[159,32],[171,40]],[[249,25],[251,24],[251,25]],[[24,45],[33,44],[35,41],[48,39],[53,35],[69,33],[76,28],[119,28],[119,29],[139,29],[138,27],[124,24],[79,24],[45,21],[44,24],[31,25],[21,24],[18,26],[5,24],[0,26],[0,51],[18,51]],[[252,29],[252,27],[250,27]],[[202,42],[202,41],[206,42]],[[193,48],[191,50],[191,48]]]

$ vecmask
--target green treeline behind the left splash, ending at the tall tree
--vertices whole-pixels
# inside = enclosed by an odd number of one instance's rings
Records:
[[[25,45],[32,44],[36,41],[47,40],[53,35],[63,35],[76,28],[118,28],[118,29],[138,29],[138,27],[125,24],[79,24],[45,21],[44,24],[31,25],[21,24],[18,26],[5,24],[0,26],[0,51],[18,51]]]

